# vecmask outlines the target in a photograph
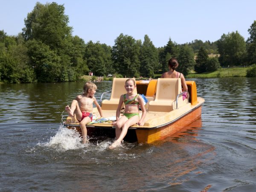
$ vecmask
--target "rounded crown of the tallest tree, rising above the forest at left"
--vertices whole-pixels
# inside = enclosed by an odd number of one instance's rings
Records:
[[[32,12],[28,13],[23,30],[27,40],[36,39],[51,49],[60,50],[66,47],[72,27],[68,26],[69,17],[64,14],[64,5],[57,3],[36,3]]]

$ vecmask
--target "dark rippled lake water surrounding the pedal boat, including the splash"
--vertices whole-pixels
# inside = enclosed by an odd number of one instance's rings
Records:
[[[195,81],[201,119],[153,144],[81,144],[62,127],[83,82],[0,85],[0,191],[256,190],[256,79]],[[111,82],[96,83],[96,98]],[[109,97],[107,94],[106,97]]]

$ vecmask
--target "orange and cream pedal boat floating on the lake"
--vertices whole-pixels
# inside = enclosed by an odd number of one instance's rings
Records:
[[[109,100],[100,99],[105,118],[116,116],[119,98],[125,91],[127,78],[114,78]],[[183,98],[181,81],[178,79],[152,79],[151,81],[136,81],[137,93],[144,94],[148,102],[145,104],[146,117],[144,126],[133,125],[128,128],[124,140],[138,143],[152,143],[172,136],[183,127],[201,118],[204,99],[197,96],[195,81],[186,81],[187,98]],[[184,99],[184,100],[183,100]],[[142,111],[140,111],[140,116]],[[93,116],[99,117],[97,108],[93,108]],[[122,113],[120,114],[122,116]],[[76,117],[67,116],[64,126],[81,132]],[[86,125],[89,137],[115,137],[115,127],[111,121],[96,122]]]

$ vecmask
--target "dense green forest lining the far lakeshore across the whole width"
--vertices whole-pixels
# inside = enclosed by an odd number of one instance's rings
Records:
[[[85,43],[73,36],[64,10],[64,5],[57,3],[36,3],[25,18],[21,33],[10,36],[0,31],[0,81],[77,81],[90,71],[95,76],[153,78],[168,70],[172,57],[178,59],[179,71],[185,76],[191,70],[202,73],[220,66],[256,64],[255,20],[246,41],[236,31],[223,34],[215,42],[194,40],[177,44],[169,38],[164,47],[155,47],[148,35],[142,41],[121,33],[111,47],[100,42]]]

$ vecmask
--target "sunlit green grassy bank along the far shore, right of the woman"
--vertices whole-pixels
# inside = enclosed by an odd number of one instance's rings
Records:
[[[221,68],[213,72],[190,73],[186,78],[211,78],[211,77],[246,77],[249,67]]]

